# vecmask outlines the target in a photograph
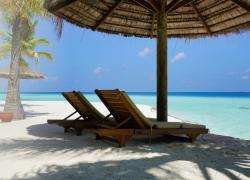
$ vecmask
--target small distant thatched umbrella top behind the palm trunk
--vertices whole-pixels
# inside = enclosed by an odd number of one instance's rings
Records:
[[[31,70],[29,67],[20,67],[19,79],[45,79],[45,77],[39,73]],[[0,78],[9,78],[10,68],[0,69]]]

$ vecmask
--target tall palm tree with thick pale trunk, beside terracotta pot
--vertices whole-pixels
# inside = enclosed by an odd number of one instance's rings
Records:
[[[24,119],[24,111],[20,99],[19,67],[22,57],[23,42],[28,42],[32,34],[32,20],[36,17],[49,18],[43,8],[43,0],[1,0],[0,15],[4,17],[11,29],[10,76],[4,111],[14,113],[15,119]],[[56,27],[62,32],[62,21],[56,20]],[[0,54],[0,56],[2,56]]]

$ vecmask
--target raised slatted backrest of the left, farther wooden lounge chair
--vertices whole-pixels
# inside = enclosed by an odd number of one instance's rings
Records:
[[[104,115],[96,110],[81,92],[63,92],[62,95],[84,119],[100,120],[104,118]]]

